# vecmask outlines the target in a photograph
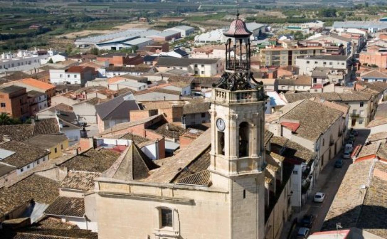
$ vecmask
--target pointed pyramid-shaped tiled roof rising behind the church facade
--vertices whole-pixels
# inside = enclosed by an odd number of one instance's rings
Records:
[[[135,143],[132,143],[102,176],[125,181],[137,180],[146,178],[149,171],[157,167]]]

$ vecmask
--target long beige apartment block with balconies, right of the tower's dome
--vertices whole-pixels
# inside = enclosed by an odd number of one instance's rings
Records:
[[[322,46],[307,46],[307,47],[272,47],[264,48],[259,52],[261,65],[296,65],[296,58],[310,57],[315,55],[322,55],[324,47]]]

